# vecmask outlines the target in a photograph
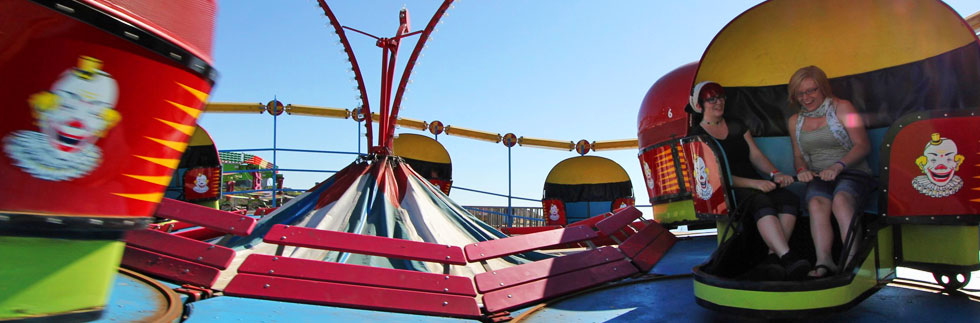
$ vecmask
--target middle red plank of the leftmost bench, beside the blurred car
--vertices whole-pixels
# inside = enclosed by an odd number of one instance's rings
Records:
[[[126,233],[126,243],[179,259],[205,264],[218,269],[228,268],[235,251],[207,242],[179,237],[156,230],[134,230]]]

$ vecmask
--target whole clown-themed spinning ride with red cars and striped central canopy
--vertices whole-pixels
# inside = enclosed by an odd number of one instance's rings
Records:
[[[0,4],[19,13],[0,22],[0,75],[31,75],[0,89],[14,102],[0,122],[0,321],[980,315],[976,290],[964,289],[980,269],[977,15],[964,21],[933,0],[764,2],[722,29],[700,60],[650,87],[637,141],[576,145],[398,116],[415,62],[451,3],[419,31],[403,9],[395,36],[384,38],[342,26],[318,1],[354,70],[361,105],[353,112],[206,103],[215,78],[214,1]],[[377,113],[348,32],[373,37],[382,49]],[[414,36],[396,84],[400,43]],[[846,50],[803,51],[800,38]],[[752,261],[739,246],[755,233],[729,191],[725,152],[710,137],[689,135],[692,116],[683,107],[691,87],[725,85],[726,113],[743,117],[760,149],[793,174],[786,76],[807,65],[824,68],[834,92],[862,111],[872,141],[877,189],[850,224],[862,234],[835,248],[838,263],[842,255],[853,260],[805,281],[719,270]],[[202,112],[262,110],[363,120],[367,153],[258,219],[165,198],[181,176],[184,192],[213,201],[208,192],[220,171],[188,157],[211,152],[206,135],[195,137]],[[548,176],[548,226],[507,236],[448,197],[448,152],[426,136],[396,137],[396,124],[583,155],[635,144],[654,221],[633,206],[622,167],[580,156]],[[609,176],[570,175],[589,173],[581,169]],[[596,210],[602,214],[592,216]],[[161,226],[153,217],[178,222]],[[680,225],[717,234],[667,230]],[[812,248],[806,234],[793,238]],[[902,287],[910,283],[898,267],[930,272],[938,287]],[[909,301],[896,307],[895,299]]]

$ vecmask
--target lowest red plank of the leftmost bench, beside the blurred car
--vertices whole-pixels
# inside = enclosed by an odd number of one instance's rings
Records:
[[[126,246],[122,266],[171,282],[211,287],[218,280],[217,268],[177,259],[164,254]]]

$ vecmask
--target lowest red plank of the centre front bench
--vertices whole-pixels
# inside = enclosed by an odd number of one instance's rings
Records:
[[[465,318],[480,317],[476,298],[253,274],[238,274],[225,295]]]

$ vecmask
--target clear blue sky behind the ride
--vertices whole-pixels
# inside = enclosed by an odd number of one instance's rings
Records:
[[[427,42],[400,115],[518,136],[578,141],[636,137],[646,91],[663,74],[700,58],[714,35],[758,1],[457,1]],[[963,16],[980,1],[949,1]],[[408,8],[412,30],[425,27],[439,1],[329,1],[341,24],[379,37]],[[377,111],[381,50],[348,32]],[[402,43],[396,79],[417,37]],[[219,3],[212,102],[267,102],[352,109],[356,84],[346,55],[316,1]],[[218,149],[269,148],[268,114],[204,114]],[[283,115],[279,148],[357,151],[357,123]],[[399,128],[396,133],[428,134]],[[431,135],[430,135],[431,136]],[[440,135],[456,186],[507,193],[507,148]],[[257,155],[272,160],[271,152]],[[638,204],[649,204],[636,150],[592,152],[629,173]],[[545,177],[574,151],[515,146],[513,194],[539,199]],[[339,170],[351,155],[279,152],[282,168]],[[309,188],[329,175],[285,172],[285,185]],[[506,205],[506,198],[454,190],[463,205]],[[514,205],[540,206],[514,201]]]

